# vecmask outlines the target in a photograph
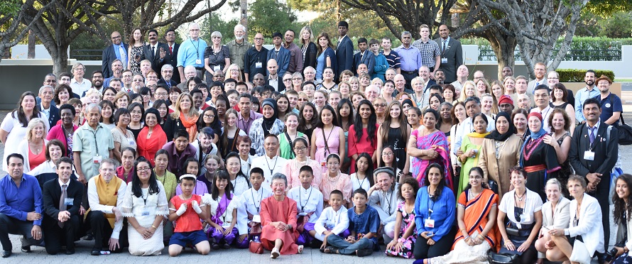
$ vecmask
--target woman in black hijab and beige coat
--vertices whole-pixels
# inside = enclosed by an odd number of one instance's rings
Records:
[[[485,136],[479,167],[483,169],[485,182],[494,180],[498,183],[498,196],[509,192],[511,186],[508,171],[518,165],[522,138],[516,136],[511,116],[502,111],[496,116],[496,130]]]

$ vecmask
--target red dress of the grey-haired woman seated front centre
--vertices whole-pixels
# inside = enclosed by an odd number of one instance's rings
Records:
[[[270,223],[281,221],[292,226],[288,231],[280,231]],[[281,255],[293,255],[298,253],[296,237],[296,202],[293,199],[284,197],[283,201],[277,201],[273,196],[261,201],[261,243],[263,248],[271,251],[274,248],[274,241],[280,238],[283,246],[280,249]]]

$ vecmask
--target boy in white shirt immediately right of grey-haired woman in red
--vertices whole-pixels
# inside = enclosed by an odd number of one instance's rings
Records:
[[[322,192],[312,187],[314,172],[312,167],[303,166],[298,171],[300,185],[288,191],[288,197],[296,201],[297,227],[300,236],[296,238],[297,245],[309,245],[314,239],[316,231],[314,224],[322,213]]]

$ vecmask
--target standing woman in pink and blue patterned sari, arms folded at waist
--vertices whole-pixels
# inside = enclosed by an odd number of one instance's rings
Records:
[[[443,167],[443,174],[447,187],[452,189],[452,174],[450,173],[450,149],[445,133],[437,129],[441,123],[439,113],[433,109],[423,112],[423,126],[410,133],[408,139],[408,154],[413,156],[413,177],[420,185],[424,182],[426,167],[432,163],[439,163]]]

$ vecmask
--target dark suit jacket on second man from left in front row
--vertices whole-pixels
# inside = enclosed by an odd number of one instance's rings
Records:
[[[67,197],[74,199],[72,206],[67,205],[66,210],[70,212],[70,215],[79,215],[79,209],[83,199],[83,185],[77,180],[70,178],[68,187],[66,188]],[[44,183],[43,189],[43,224],[44,225],[56,225],[58,222],[59,199],[62,195],[62,189],[59,185],[58,178],[49,180]]]

